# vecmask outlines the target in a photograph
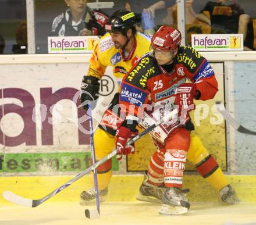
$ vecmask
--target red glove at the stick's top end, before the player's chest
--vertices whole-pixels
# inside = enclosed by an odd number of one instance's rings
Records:
[[[175,91],[175,105],[179,107],[179,116],[186,120],[187,113],[195,109],[194,97],[196,85],[190,83],[180,84]]]

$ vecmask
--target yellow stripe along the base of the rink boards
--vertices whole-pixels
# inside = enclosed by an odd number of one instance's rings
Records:
[[[60,187],[74,176],[41,176],[41,177],[0,177],[0,202],[3,191],[13,191],[25,198],[42,198],[49,192]],[[236,190],[238,197],[245,202],[256,202],[256,176],[227,176]],[[113,176],[109,186],[107,201],[135,201],[138,188],[143,181],[143,175]],[[59,192],[48,201],[79,201],[80,192],[91,187],[91,178],[86,176],[76,181],[66,190]],[[210,187],[198,175],[186,174],[183,188],[190,188],[190,201],[220,202],[218,191]]]

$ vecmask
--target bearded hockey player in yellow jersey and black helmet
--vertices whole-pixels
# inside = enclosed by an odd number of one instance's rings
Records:
[[[123,76],[129,72],[132,65],[149,51],[151,38],[147,35],[137,33],[135,24],[136,16],[133,12],[127,10],[118,10],[109,17],[105,25],[108,33],[94,45],[90,66],[81,84],[81,90],[83,92],[81,93],[80,100],[83,103],[84,109],[88,109],[88,105],[85,104],[88,101],[91,102],[91,107],[95,108],[96,100],[99,97],[98,81],[104,75],[107,66],[112,66],[113,75],[118,81],[122,81]],[[104,158],[104,156],[108,155],[115,148],[116,129],[123,123],[123,120],[120,119],[120,112],[114,112],[115,110],[112,110],[118,103],[119,93],[116,93],[94,133],[96,160]],[[109,117],[113,118],[113,120],[104,119]],[[189,128],[190,126],[187,127],[189,130],[193,130]],[[187,153],[187,159],[195,165],[201,176],[219,191],[223,202],[228,204],[236,203],[238,201],[236,194],[230,186],[229,181],[223,175],[214,157],[209,155],[207,149],[202,145],[200,138],[194,135],[193,132],[190,135],[191,144]],[[108,185],[112,176],[111,166],[112,160],[109,159],[97,168],[99,199],[101,201],[104,200],[105,195],[108,193]],[[150,178],[146,173],[145,180]],[[143,188],[143,185],[144,182],[141,188]],[[152,185],[152,187],[147,188],[150,191],[148,193],[143,192],[143,190],[141,191],[141,188],[140,199],[152,201],[151,197],[155,197],[153,193],[157,192],[158,187]],[[94,187],[81,192],[80,198],[82,205],[95,200]]]

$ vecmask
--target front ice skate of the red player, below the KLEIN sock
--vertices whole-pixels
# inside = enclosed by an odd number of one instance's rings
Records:
[[[181,215],[187,213],[190,203],[186,198],[189,190],[179,188],[166,188],[162,201],[163,205],[159,209],[161,215]]]

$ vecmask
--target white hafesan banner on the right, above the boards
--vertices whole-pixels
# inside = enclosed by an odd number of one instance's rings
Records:
[[[243,51],[243,34],[192,34],[191,45],[197,51]]]

